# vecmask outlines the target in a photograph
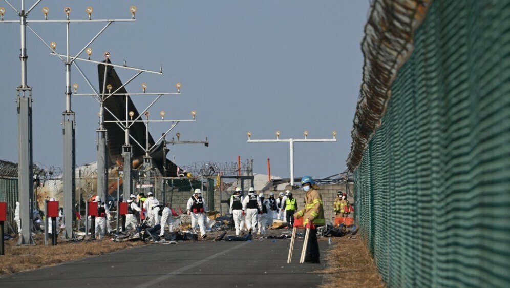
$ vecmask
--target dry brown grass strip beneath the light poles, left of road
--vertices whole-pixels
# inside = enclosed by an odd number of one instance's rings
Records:
[[[17,239],[5,241],[5,256],[0,256],[0,275],[144,245],[143,241],[118,243],[106,238],[87,242],[58,242],[56,246],[45,246],[44,241],[40,240],[36,240],[36,246],[16,246],[16,242]]]

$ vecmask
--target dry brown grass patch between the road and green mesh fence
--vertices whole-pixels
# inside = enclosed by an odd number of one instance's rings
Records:
[[[386,287],[365,243],[354,236],[331,238],[334,247],[326,255],[328,268],[322,288]]]

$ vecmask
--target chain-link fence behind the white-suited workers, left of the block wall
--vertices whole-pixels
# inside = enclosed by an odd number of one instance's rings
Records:
[[[153,192],[156,198],[164,205],[173,208],[177,213],[186,212],[186,204],[195,189],[202,190],[208,211],[220,209],[220,175],[252,175],[252,161],[215,163],[197,162],[183,166],[180,177],[162,177],[157,170],[151,173],[138,173],[134,171],[133,194]],[[0,201],[8,202],[8,232],[14,233],[15,203],[18,200],[17,164],[0,160]],[[45,201],[54,198],[63,206],[63,171],[55,167],[45,167],[40,163],[34,164],[34,211],[45,215]],[[149,176],[147,177],[147,174]],[[145,176],[141,176],[145,175]],[[75,168],[76,190],[74,209],[81,216],[86,215],[86,202],[97,194],[97,165],[96,163],[82,164]],[[110,207],[112,222],[116,221],[117,199],[125,201],[129,195],[123,195],[121,178],[116,170],[109,171],[108,197],[105,199]],[[248,184],[246,184],[248,185]],[[229,184],[225,186],[230,188]],[[246,186],[249,187],[249,186]],[[233,188],[232,188],[233,189]],[[231,194],[231,193],[230,193]],[[225,197],[229,196],[228,193]],[[84,219],[86,217],[82,217]],[[76,229],[83,227],[82,221],[75,221]],[[112,228],[115,228],[112,223]],[[12,229],[10,229],[12,227]]]

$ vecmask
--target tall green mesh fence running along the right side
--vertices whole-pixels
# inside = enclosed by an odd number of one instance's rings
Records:
[[[354,171],[392,287],[510,287],[510,1],[436,0]]]

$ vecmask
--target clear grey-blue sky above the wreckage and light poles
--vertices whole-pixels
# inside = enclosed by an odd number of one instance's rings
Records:
[[[35,1],[28,1],[30,7]],[[19,7],[20,1],[13,0]],[[6,20],[19,19],[6,3]],[[247,143],[252,139],[330,138],[336,143],[296,143],[296,177],[326,177],[345,169],[350,151],[350,131],[363,56],[360,42],[369,10],[369,1],[81,1],[43,0],[30,19],[43,19],[42,7],[50,8],[49,19],[63,19],[63,7],[72,8],[71,19],[84,19],[87,6],[93,19],[130,18],[136,5],[137,21],[114,23],[91,47],[92,59],[102,60],[109,51],[111,60],[130,66],[159,70],[164,75],[142,74],[126,88],[141,92],[175,91],[182,83],[181,96],[160,100],[152,115],[165,110],[165,118],[188,119],[197,111],[197,121],[179,124],[175,132],[181,140],[203,140],[202,145],[170,146],[168,157],[184,166],[197,161],[233,162],[254,158],[254,172],[289,177],[287,143]],[[71,25],[71,54],[88,43],[103,24]],[[55,41],[56,51],[65,53],[65,24],[32,24],[47,43]],[[65,71],[61,61],[32,32],[28,39],[28,85],[33,88],[34,161],[45,166],[63,166],[62,111],[65,109]],[[17,162],[16,90],[20,83],[19,25],[0,24],[0,159]],[[97,86],[97,67],[79,63]],[[116,69],[123,81],[133,71]],[[71,83],[78,93],[92,92],[73,67]],[[134,98],[139,110],[152,98]],[[99,106],[89,97],[73,97],[76,112],[76,163],[97,158],[95,130]],[[153,137],[166,125],[151,125]]]

